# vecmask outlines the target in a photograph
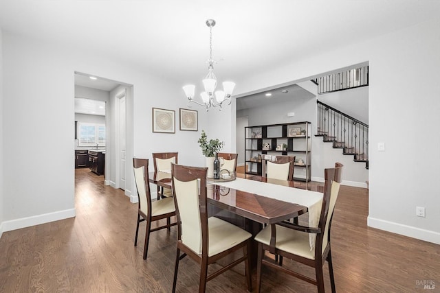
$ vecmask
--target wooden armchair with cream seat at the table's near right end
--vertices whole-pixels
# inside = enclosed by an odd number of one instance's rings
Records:
[[[342,180],[341,177],[342,164],[336,163],[336,167],[325,169],[324,196],[322,198],[322,207],[317,228],[282,222],[266,226],[255,236],[255,240],[259,242],[256,268],[256,292],[260,292],[262,264],[287,272],[287,274],[317,285],[318,292],[325,292],[322,266],[324,266],[326,259],[329,262],[331,291],[336,292],[333,264],[331,263],[330,227]],[[275,233],[272,233],[272,229],[275,229]],[[310,233],[316,234],[314,242],[310,241]],[[311,243],[314,243],[314,246],[311,246]],[[263,255],[265,250],[315,268],[316,280],[299,274],[298,272],[293,272],[281,264],[278,265],[278,263],[274,261],[264,259]]]

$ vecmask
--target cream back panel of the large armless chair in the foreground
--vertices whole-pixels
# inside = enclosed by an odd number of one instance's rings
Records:
[[[201,220],[199,210],[199,181],[173,179],[175,199],[181,220],[181,242],[195,253],[201,253]]]

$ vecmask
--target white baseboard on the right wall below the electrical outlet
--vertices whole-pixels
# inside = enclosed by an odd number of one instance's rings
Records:
[[[440,244],[440,233],[377,218],[368,217],[366,224],[372,228],[396,233],[434,244]]]

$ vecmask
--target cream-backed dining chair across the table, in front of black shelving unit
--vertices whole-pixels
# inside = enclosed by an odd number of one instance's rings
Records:
[[[278,180],[294,180],[295,156],[272,156],[262,164],[263,177]]]

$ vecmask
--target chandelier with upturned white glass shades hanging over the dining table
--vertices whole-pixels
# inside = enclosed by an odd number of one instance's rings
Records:
[[[200,94],[201,100],[203,102],[197,102],[194,98],[195,85],[188,84],[183,87],[185,91],[186,97],[188,97],[188,106],[190,107],[190,103],[195,103],[200,106],[205,106],[206,111],[209,110],[210,107],[219,107],[221,110],[221,105],[225,102],[228,102],[228,105],[231,104],[231,95],[232,91],[234,91],[234,82],[223,82],[223,91],[215,91],[217,87],[217,78],[214,75],[214,59],[212,59],[212,27],[215,25],[214,19],[208,19],[206,21],[206,25],[209,27],[209,59],[208,59],[208,75],[206,78],[202,80],[205,91]],[[214,93],[215,91],[215,93]],[[215,101],[214,101],[215,95]]]

